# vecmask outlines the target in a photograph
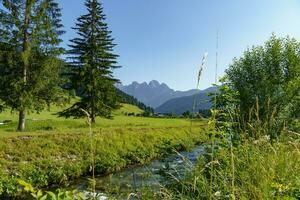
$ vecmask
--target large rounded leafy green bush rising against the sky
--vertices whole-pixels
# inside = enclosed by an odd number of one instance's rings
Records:
[[[277,138],[285,124],[299,117],[300,44],[272,36],[252,47],[226,70],[217,97],[220,121],[251,137]],[[253,129],[261,127],[260,130]],[[251,131],[253,130],[253,131]]]

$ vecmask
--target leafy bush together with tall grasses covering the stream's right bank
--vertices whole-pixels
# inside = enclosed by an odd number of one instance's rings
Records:
[[[234,60],[212,95],[206,154],[160,198],[300,198],[299,50],[295,39],[273,35]]]

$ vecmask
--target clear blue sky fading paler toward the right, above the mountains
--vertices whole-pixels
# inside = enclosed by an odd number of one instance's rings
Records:
[[[85,13],[84,0],[58,0],[67,33]],[[299,0],[102,0],[120,55],[115,76],[123,84],[158,80],[176,90],[195,88],[202,55],[208,52],[201,88],[214,82],[216,32],[219,71],[247,47],[272,32],[300,40]]]

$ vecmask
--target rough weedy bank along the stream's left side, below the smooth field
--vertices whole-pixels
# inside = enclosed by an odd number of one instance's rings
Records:
[[[199,122],[192,129],[183,126],[94,130],[96,174],[145,165],[173,149],[192,149],[206,141],[206,129],[206,123]],[[51,185],[64,188],[90,174],[90,159],[90,138],[85,132],[1,138],[0,199],[22,195],[18,180],[44,191]]]

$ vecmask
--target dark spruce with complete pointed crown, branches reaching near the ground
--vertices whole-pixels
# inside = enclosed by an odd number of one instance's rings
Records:
[[[84,117],[87,111],[92,122],[96,116],[110,117],[117,107],[112,70],[117,68],[118,55],[113,53],[115,44],[105,23],[103,8],[97,0],[85,2],[87,14],[77,19],[78,37],[71,40],[69,51],[70,88],[79,91],[80,101],[60,112],[64,117]]]

